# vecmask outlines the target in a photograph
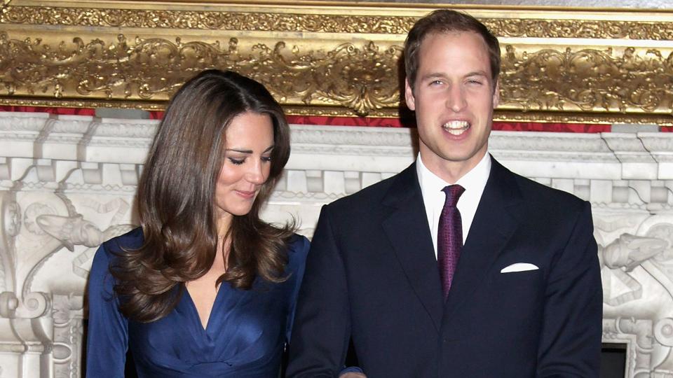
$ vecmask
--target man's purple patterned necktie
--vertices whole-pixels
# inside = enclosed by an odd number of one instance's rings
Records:
[[[461,212],[456,204],[465,188],[459,185],[449,185],[442,189],[447,195],[444,209],[440,216],[440,225],[437,228],[437,263],[440,267],[440,279],[442,279],[442,291],[444,300],[449,295],[451,280],[454,279],[458,258],[463,248],[463,224]]]

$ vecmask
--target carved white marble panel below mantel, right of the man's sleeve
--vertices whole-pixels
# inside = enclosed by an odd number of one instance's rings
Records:
[[[665,377],[673,364],[673,217],[594,211],[594,219],[604,342],[627,344],[626,377]]]

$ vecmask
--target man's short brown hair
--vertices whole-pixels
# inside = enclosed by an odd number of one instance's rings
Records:
[[[448,9],[435,10],[416,21],[414,27],[409,30],[407,41],[405,41],[405,71],[409,85],[413,88],[416,81],[416,73],[419,69],[419,50],[423,39],[430,34],[443,34],[452,31],[473,31],[484,38],[489,48],[491,78],[495,88],[498,82],[498,74],[500,74],[500,43],[498,43],[498,38],[471,15]]]

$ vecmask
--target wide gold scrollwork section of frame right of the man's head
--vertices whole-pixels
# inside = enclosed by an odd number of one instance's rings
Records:
[[[557,111],[673,112],[673,52],[612,48],[517,52],[505,46],[501,104]]]

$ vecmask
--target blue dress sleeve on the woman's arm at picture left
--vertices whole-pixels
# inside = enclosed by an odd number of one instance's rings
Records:
[[[118,310],[110,254],[100,246],[89,273],[89,318],[86,340],[86,377],[123,377],[128,347],[128,321]]]

